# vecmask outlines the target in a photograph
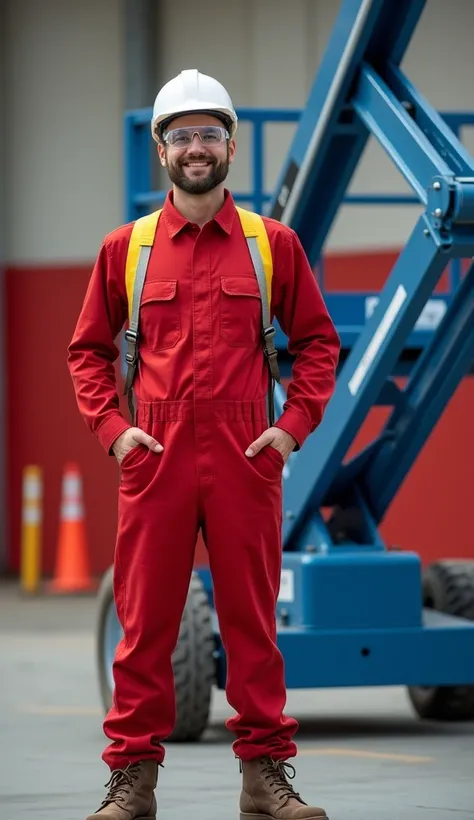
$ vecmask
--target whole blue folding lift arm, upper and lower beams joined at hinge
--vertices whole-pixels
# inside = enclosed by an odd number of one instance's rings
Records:
[[[471,268],[407,387],[390,378],[447,263],[474,249],[473,159],[399,68],[424,6],[343,2],[271,204],[314,264],[373,134],[425,207],[342,368],[323,423],[291,463],[288,550],[302,537],[318,547],[328,531],[330,541],[367,543],[474,361]],[[389,421],[366,452],[342,466],[380,395],[393,406]],[[329,526],[322,526],[322,506],[336,508]]]

